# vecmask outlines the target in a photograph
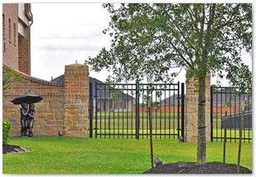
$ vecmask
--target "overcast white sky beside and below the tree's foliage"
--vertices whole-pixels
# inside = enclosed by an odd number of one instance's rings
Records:
[[[102,3],[32,3],[34,23],[31,26],[31,75],[50,80],[64,74],[64,66],[83,64],[100,49],[109,47],[109,13]],[[249,54],[244,62],[252,66]],[[90,71],[90,76],[105,81],[107,73]],[[185,81],[183,70],[175,81]],[[212,79],[212,84],[216,83]],[[226,81],[223,82],[226,84]]]

